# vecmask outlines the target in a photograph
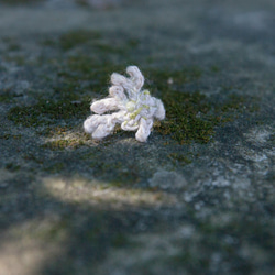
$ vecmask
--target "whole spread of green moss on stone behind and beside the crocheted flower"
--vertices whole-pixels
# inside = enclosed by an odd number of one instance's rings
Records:
[[[52,42],[51,42],[52,43]],[[50,44],[51,44],[50,43]],[[98,32],[77,30],[63,34],[58,42],[64,50],[79,46],[79,53],[88,45],[90,55],[77,54],[66,56],[64,61],[56,61],[61,85],[54,87],[52,98],[41,98],[31,107],[13,107],[8,118],[25,127],[59,124],[85,119],[89,112],[91,99],[85,96],[92,91],[96,97],[107,96],[108,82],[113,72],[124,74],[128,64],[117,65],[117,57],[123,59],[125,53],[139,45],[134,38],[124,38],[122,42],[111,43],[110,38],[101,37]],[[116,56],[116,58],[113,58]],[[117,58],[117,59],[118,59]],[[129,61],[128,61],[129,63]],[[170,136],[178,143],[208,143],[215,135],[215,127],[230,121],[232,116],[226,116],[234,110],[242,110],[246,99],[232,96],[223,98],[222,102],[215,102],[199,91],[187,92],[186,84],[198,81],[202,75],[199,67],[184,67],[177,70],[147,68],[142,69],[147,79],[151,79],[152,95],[160,97],[166,108],[166,120],[156,124],[160,133]],[[215,66],[212,70],[218,70]],[[85,82],[85,88],[82,84]],[[73,103],[79,102],[79,103]],[[246,110],[248,111],[248,110]],[[52,144],[54,146],[54,144]],[[56,147],[66,147],[66,144]],[[182,160],[185,162],[186,160]]]

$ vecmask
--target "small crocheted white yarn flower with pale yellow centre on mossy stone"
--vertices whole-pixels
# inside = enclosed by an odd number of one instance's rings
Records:
[[[96,140],[111,134],[119,123],[124,131],[138,130],[135,139],[145,142],[151,133],[154,118],[158,120],[165,118],[163,102],[152,97],[148,90],[141,90],[144,77],[140,69],[136,66],[129,66],[127,73],[130,78],[113,73],[109,97],[95,101],[90,107],[97,114],[90,116],[84,122],[84,129]],[[103,114],[114,110],[118,112]]]

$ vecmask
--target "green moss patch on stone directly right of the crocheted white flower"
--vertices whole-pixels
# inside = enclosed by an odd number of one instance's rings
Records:
[[[156,127],[165,135],[178,143],[208,143],[215,135],[215,127],[232,120],[230,112],[245,109],[249,100],[231,95],[222,102],[209,99],[204,94],[183,91],[186,82],[196,81],[202,72],[199,68],[184,68],[177,72],[148,70],[153,90],[162,98],[166,109],[166,120]],[[252,111],[246,108],[245,111]]]

